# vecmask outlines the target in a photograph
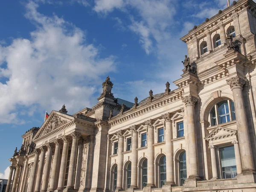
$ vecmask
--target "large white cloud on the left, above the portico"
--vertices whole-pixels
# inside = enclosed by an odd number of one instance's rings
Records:
[[[32,1],[26,6],[26,17],[37,26],[31,39],[0,46],[0,77],[8,79],[0,83],[0,123],[24,123],[18,107],[58,110],[65,103],[73,113],[90,106],[94,84],[115,69],[115,58],[101,58],[81,29],[56,15],[44,16],[37,7]],[[1,68],[4,62],[7,67]]]

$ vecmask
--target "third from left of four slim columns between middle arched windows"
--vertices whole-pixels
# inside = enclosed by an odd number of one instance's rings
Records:
[[[154,128],[151,119],[145,121],[148,128],[148,183],[147,186],[154,186]]]

